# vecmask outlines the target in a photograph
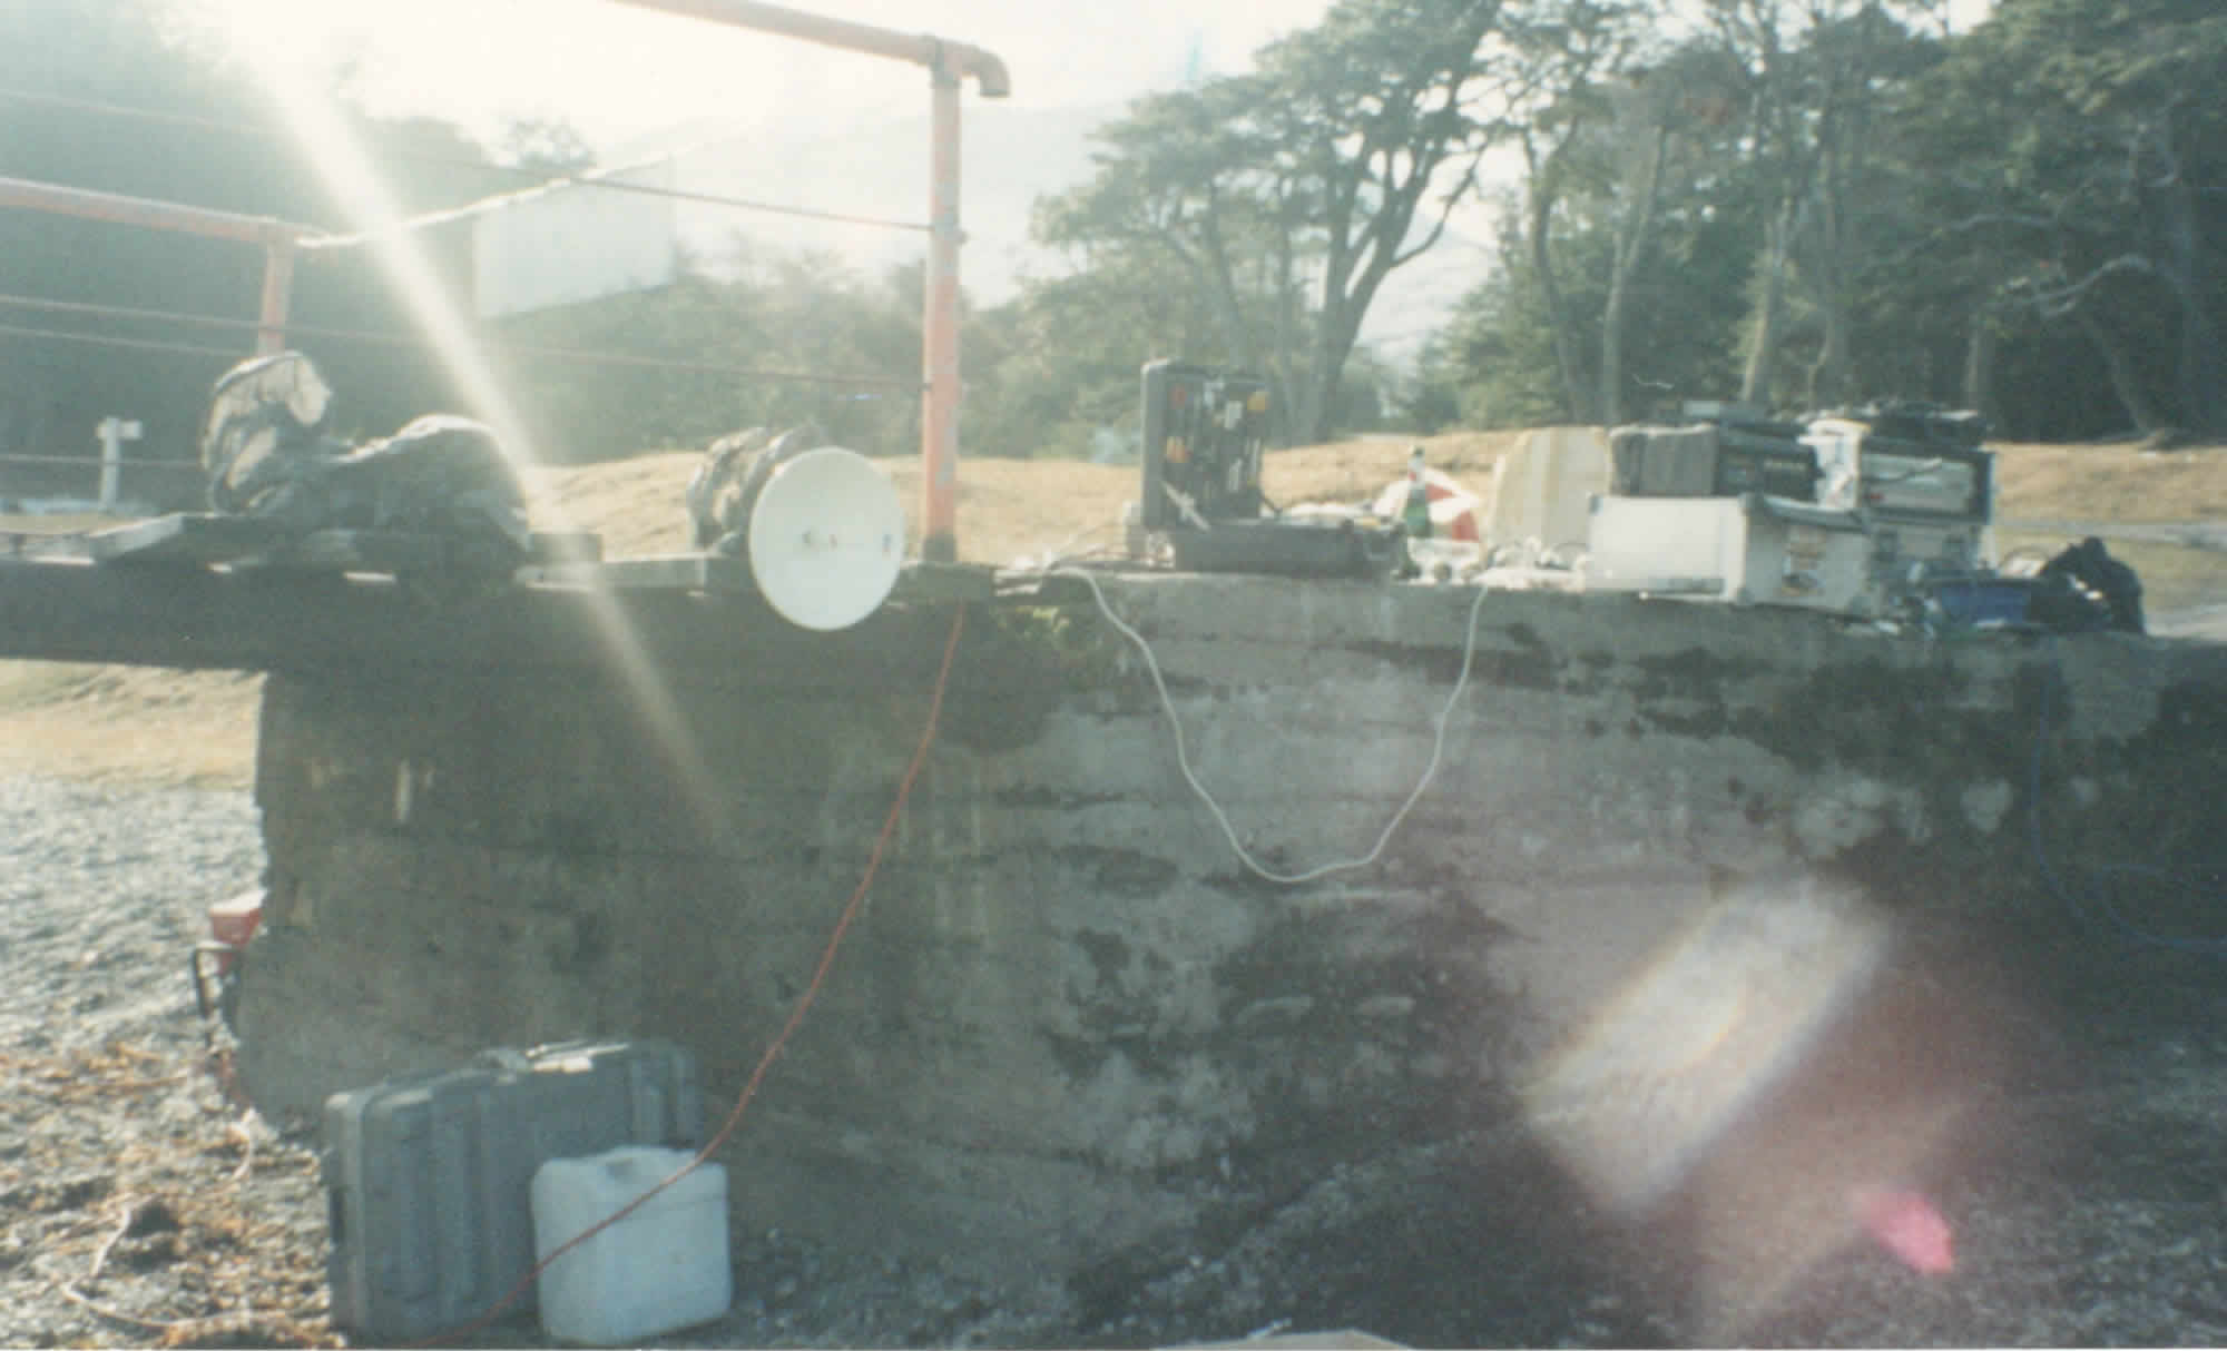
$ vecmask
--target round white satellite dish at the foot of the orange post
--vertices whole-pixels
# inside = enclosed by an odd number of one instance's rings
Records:
[[[897,487],[855,450],[806,450],[757,492],[748,550],[750,576],[782,619],[822,632],[851,628],[897,585]]]

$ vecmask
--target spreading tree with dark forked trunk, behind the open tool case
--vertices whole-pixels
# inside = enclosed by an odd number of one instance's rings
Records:
[[[1327,438],[1379,287],[1474,185],[1497,18],[1499,0],[1341,0],[1249,76],[1138,100],[1038,238],[1091,265],[1174,260],[1269,378],[1287,436]]]

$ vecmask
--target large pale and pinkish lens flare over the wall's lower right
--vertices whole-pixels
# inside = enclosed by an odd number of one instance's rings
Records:
[[[1853,888],[1748,890],[1666,941],[1530,1084],[1539,1137],[1679,1271],[1697,1340],[1742,1340],[1866,1237],[1920,1275],[1955,1269],[1909,1180],[1982,1093],[1944,1048],[1986,1033],[1969,993],[1906,955]]]

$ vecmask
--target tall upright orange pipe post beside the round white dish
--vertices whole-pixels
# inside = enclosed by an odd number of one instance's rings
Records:
[[[920,365],[920,556],[958,561],[960,463],[960,76],[938,53],[929,65],[933,118],[929,145],[929,269]]]

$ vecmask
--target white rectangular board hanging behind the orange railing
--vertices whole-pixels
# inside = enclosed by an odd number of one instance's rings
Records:
[[[673,162],[606,183],[673,187]],[[481,318],[577,305],[673,283],[675,198],[581,183],[521,196],[472,223],[472,296]]]

